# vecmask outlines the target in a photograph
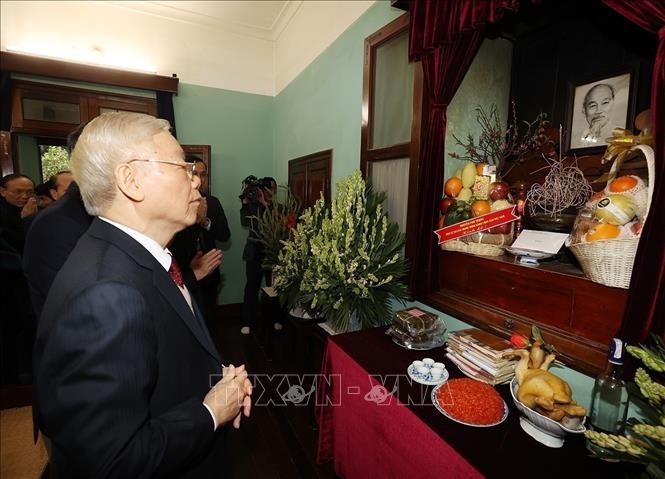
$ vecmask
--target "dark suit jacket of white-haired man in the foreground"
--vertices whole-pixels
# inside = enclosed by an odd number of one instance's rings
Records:
[[[194,306],[143,246],[93,221],[53,283],[35,345],[58,477],[223,476],[222,430],[202,403],[220,360]]]

